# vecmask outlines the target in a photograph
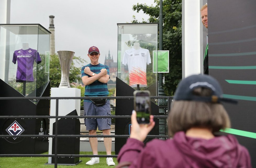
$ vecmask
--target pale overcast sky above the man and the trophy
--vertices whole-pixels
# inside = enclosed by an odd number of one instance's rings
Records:
[[[49,29],[49,16],[53,15],[55,53],[74,51],[90,63],[88,48],[97,46],[100,63],[104,64],[109,50],[117,62],[117,23],[131,23],[133,15],[139,22],[149,18],[132,10],[137,3],[151,5],[154,0],[11,0],[10,23],[39,23]]]

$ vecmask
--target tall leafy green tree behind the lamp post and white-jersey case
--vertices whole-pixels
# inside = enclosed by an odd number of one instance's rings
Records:
[[[153,5],[139,4],[133,5],[134,11],[143,11],[149,15],[148,23],[159,22],[159,0]],[[172,96],[177,88],[177,84],[182,78],[182,49],[181,49],[181,0],[163,1],[163,50],[169,50],[169,73],[164,73],[165,84],[163,85],[165,94]],[[146,22],[146,21],[143,21]],[[138,23],[133,16],[132,23]]]

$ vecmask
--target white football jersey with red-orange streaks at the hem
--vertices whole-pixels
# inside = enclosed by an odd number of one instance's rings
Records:
[[[128,65],[129,70],[129,85],[136,87],[147,87],[146,68],[151,64],[149,50],[141,48],[135,50],[134,48],[128,49],[124,53],[123,64]]]

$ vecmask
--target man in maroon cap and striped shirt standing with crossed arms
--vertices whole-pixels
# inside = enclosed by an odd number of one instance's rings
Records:
[[[91,63],[82,67],[82,82],[85,85],[85,96],[107,96],[109,94],[107,82],[109,80],[109,67],[99,63],[99,49],[92,46],[88,50],[88,57]],[[95,99],[94,99],[95,100]],[[103,99],[104,100],[104,99]],[[84,99],[84,115],[99,115],[108,116],[110,113],[109,99],[103,105],[97,106],[90,99]],[[89,130],[89,135],[96,135],[98,130],[102,130],[103,135],[111,135],[110,126],[111,118],[85,119],[86,130]],[[98,155],[98,140],[97,138],[89,138],[93,155]],[[107,155],[111,155],[112,138],[104,138],[104,145]],[[86,165],[99,163],[99,157],[92,157],[86,162]],[[107,158],[107,164],[114,166],[113,158]]]

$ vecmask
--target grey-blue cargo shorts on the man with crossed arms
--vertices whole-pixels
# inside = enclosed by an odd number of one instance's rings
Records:
[[[110,102],[106,101],[104,105],[96,106],[93,102],[84,102],[84,115],[102,115],[102,116],[111,116],[110,112]],[[104,130],[110,129],[111,118],[96,118],[96,119],[84,119],[86,130]]]

